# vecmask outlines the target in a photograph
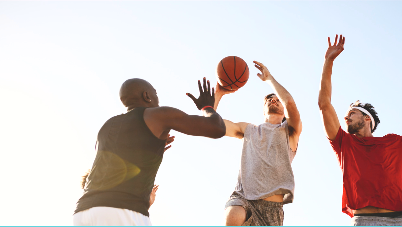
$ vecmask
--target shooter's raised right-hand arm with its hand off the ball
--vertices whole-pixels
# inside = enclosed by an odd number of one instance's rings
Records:
[[[290,147],[295,151],[302,129],[300,114],[297,110],[296,103],[290,93],[275,80],[263,63],[259,63],[258,61],[254,61],[254,63],[256,64],[254,66],[262,73],[257,73],[257,76],[272,87],[274,93],[277,95],[279,101],[281,101],[284,107],[283,111],[285,113],[287,124],[289,129],[292,130],[292,133],[289,133]]]

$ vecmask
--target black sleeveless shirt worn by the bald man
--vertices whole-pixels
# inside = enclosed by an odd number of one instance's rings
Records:
[[[145,107],[114,116],[100,128],[96,157],[74,213],[92,207],[129,209],[149,216],[149,199],[166,140],[152,134]]]

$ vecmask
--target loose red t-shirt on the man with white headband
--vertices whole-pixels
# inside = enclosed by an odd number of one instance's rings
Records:
[[[330,140],[343,172],[342,212],[367,206],[402,211],[402,136],[359,138],[339,127]]]

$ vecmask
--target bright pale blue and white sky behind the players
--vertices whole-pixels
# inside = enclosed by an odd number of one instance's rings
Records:
[[[295,199],[284,206],[283,224],[350,225],[341,212],[342,171],[318,110],[327,37],[346,37],[332,74],[340,121],[360,99],[379,114],[374,136],[402,135],[401,10],[399,1],[1,1],[0,225],[72,225],[97,132],[125,112],[121,83],[146,79],[160,105],[201,115],[185,93],[196,94],[203,77],[215,84],[217,63],[230,55],[248,63],[250,79],[224,96],[223,118],[263,123],[272,89],[253,60],[293,95],[301,115]],[[222,225],[241,140],[171,134],[153,225]]]

